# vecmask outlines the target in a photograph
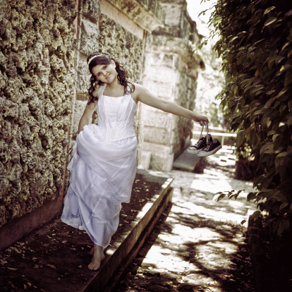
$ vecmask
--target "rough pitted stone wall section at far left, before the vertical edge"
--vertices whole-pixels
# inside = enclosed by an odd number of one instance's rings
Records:
[[[63,188],[75,0],[0,3],[0,226]]]

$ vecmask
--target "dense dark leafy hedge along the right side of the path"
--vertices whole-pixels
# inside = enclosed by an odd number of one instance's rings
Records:
[[[238,151],[258,161],[248,200],[280,235],[292,221],[292,1],[218,0],[211,23],[226,73],[221,106]]]

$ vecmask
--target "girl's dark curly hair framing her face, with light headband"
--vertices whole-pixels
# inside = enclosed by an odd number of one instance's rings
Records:
[[[92,59],[92,57],[97,56],[96,58]],[[90,60],[91,59],[91,60]],[[100,80],[97,80],[97,77],[92,73],[92,68],[97,65],[107,65],[111,63],[111,60],[113,60],[116,63],[116,72],[118,73],[118,84],[123,85],[123,92],[124,94],[129,94],[134,92],[135,85],[127,80],[127,78],[130,78],[130,74],[126,71],[123,66],[121,66],[118,61],[116,61],[114,58],[109,56],[109,54],[102,53],[102,52],[94,52],[87,56],[87,63],[88,63],[88,69],[91,73],[90,77],[90,87],[88,89],[88,95],[89,95],[89,101],[88,104],[91,104],[92,102],[95,102],[95,100],[98,99],[98,97],[95,97],[93,95],[93,92],[97,90],[103,83]],[[98,86],[98,87],[97,87]],[[129,91],[130,89],[130,91]]]

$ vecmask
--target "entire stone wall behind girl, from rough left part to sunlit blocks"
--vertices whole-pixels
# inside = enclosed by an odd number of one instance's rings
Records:
[[[92,51],[107,51],[134,82],[193,109],[197,62],[188,41],[195,26],[185,0],[169,3],[0,2],[0,249],[61,212]],[[192,123],[145,107],[138,105],[135,121],[138,159],[146,154],[152,168],[171,169]]]

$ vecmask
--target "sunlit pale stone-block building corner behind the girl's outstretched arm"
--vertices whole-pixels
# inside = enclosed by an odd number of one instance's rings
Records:
[[[185,0],[160,1],[164,25],[147,35],[142,84],[154,95],[195,107],[197,70],[200,59],[190,43],[199,39],[195,22],[186,11]],[[193,121],[142,105],[140,166],[163,171],[188,146]]]

